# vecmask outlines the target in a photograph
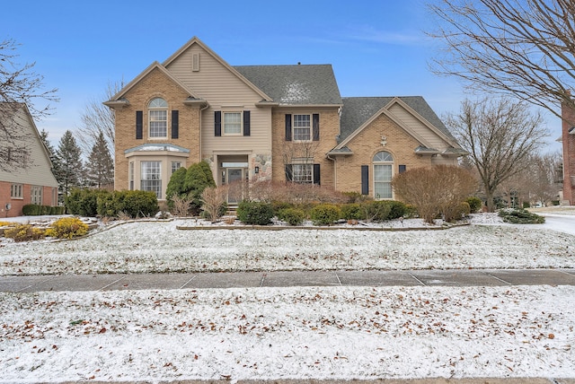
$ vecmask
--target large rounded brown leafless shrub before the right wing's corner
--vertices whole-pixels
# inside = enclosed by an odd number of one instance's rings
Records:
[[[439,214],[450,222],[457,206],[475,191],[477,180],[463,168],[435,165],[399,173],[392,186],[405,203],[415,205],[425,222],[434,223]]]

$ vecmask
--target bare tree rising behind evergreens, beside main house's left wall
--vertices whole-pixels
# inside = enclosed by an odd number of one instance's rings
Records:
[[[108,83],[105,94],[101,97],[94,97],[89,100],[80,117],[81,125],[77,128],[80,135],[80,146],[84,153],[89,153],[93,145],[98,142],[100,133],[104,135],[106,145],[110,151],[112,159],[114,158],[114,109],[108,108],[102,104],[102,100],[111,100],[112,97],[123,87],[123,82]]]

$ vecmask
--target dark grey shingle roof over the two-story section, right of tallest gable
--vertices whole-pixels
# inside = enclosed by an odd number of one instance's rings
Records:
[[[239,65],[240,74],[280,105],[341,105],[332,65]]]

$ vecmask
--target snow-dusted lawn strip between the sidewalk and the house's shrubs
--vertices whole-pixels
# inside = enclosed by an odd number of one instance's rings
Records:
[[[481,217],[482,223],[496,220]],[[0,275],[575,267],[575,236],[525,225],[437,231],[176,229],[198,224],[125,223],[73,241],[5,241]],[[425,227],[418,225],[413,228]]]

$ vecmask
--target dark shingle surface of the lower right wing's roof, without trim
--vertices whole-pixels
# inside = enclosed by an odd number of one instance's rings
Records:
[[[437,127],[447,137],[456,141],[451,132],[443,124],[438,115],[429,107],[429,104],[421,96],[401,96],[405,104],[415,110]],[[387,105],[394,97],[349,97],[343,98],[343,108],[341,109],[341,140],[351,135],[358,127],[361,127],[369,118],[374,116],[379,109]]]

